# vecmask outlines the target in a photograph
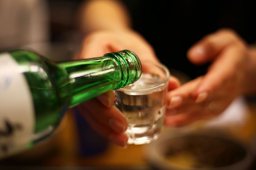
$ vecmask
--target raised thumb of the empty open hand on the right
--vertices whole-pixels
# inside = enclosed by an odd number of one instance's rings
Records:
[[[203,64],[214,60],[218,54],[228,45],[241,39],[231,29],[219,31],[205,36],[193,45],[187,52],[188,59],[194,64]]]

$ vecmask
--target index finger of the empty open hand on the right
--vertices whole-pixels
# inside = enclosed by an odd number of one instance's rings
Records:
[[[192,98],[197,100],[200,94],[207,94],[204,95],[205,99],[216,88],[224,85],[227,81],[233,81],[234,86],[236,86],[238,82],[234,80],[237,80],[237,78],[239,78],[238,76],[241,74],[239,68],[240,65],[243,65],[241,60],[245,58],[245,51],[245,47],[239,43],[230,44],[225,48],[225,50],[219,54],[215,62],[212,63],[208,73],[195,88],[192,93]]]

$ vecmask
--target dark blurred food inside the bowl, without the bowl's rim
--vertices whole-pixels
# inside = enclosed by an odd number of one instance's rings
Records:
[[[172,143],[164,159],[181,167],[224,167],[241,161],[247,154],[238,143],[215,136],[187,135],[173,138]]]

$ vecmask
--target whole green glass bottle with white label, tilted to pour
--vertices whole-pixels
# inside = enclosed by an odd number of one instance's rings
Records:
[[[65,62],[24,49],[0,52],[0,158],[49,136],[68,108],[140,75],[128,50]]]

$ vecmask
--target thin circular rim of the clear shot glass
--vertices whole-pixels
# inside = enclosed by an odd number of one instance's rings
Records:
[[[164,86],[168,82],[169,77],[170,77],[170,71],[169,71],[169,69],[165,65],[163,65],[162,63],[153,63],[153,62],[149,62],[149,61],[141,62],[141,65],[143,65],[144,63],[152,64],[152,65],[162,69],[164,71],[164,73],[165,73],[165,78],[163,79],[163,81],[160,84],[158,84],[157,86],[150,87],[150,88],[139,89],[139,90],[127,89],[127,88],[119,88],[117,91],[123,91],[123,92],[129,92],[129,93],[140,93],[140,92],[153,91],[153,90],[155,90],[155,89],[157,89],[159,87]]]

